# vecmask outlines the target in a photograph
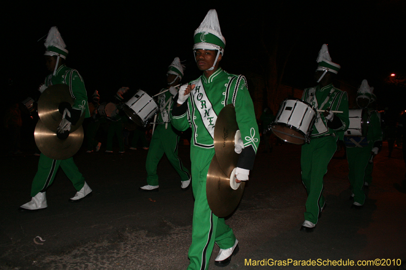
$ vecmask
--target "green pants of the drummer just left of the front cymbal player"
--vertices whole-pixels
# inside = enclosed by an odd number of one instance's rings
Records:
[[[178,157],[179,138],[180,137],[173,131],[171,123],[168,123],[167,129],[165,129],[164,124],[156,126],[145,163],[147,169],[147,183],[149,185],[158,185],[156,169],[164,153],[181,177],[181,181],[190,179],[189,171],[183,166],[181,159]]]

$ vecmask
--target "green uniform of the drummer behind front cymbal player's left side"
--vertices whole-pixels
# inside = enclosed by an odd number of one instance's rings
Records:
[[[162,92],[165,89],[162,89]],[[147,169],[147,183],[151,186],[158,185],[158,175],[156,169],[158,163],[165,153],[166,158],[175,168],[181,177],[181,181],[189,181],[189,171],[183,166],[178,157],[178,144],[180,136],[175,132],[170,123],[170,108],[172,108],[173,95],[170,91],[158,96],[159,112],[157,115],[157,124],[148,149],[148,155],[145,167]]]

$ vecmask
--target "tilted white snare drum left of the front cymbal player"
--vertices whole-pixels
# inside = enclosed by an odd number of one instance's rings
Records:
[[[134,123],[146,127],[159,108],[155,100],[142,90],[130,98],[123,107],[125,114]]]

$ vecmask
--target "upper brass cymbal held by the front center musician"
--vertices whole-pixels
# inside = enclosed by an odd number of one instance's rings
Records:
[[[230,175],[239,159],[239,154],[234,151],[234,136],[238,129],[235,108],[228,104],[220,111],[214,128],[214,150],[226,175]]]

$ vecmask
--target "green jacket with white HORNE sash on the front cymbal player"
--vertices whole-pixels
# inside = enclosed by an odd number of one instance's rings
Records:
[[[195,87],[187,102],[178,108],[174,107],[172,125],[181,131],[188,129],[189,126],[192,128],[192,147],[214,149],[213,138],[217,116],[225,105],[233,104],[245,146],[238,167],[251,170],[259,145],[259,132],[245,77],[229,74],[219,68],[210,78],[206,78],[203,74],[189,83],[193,84]],[[183,109],[180,110],[181,107]]]

